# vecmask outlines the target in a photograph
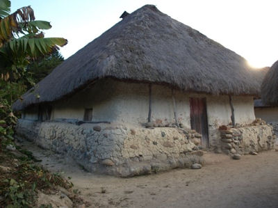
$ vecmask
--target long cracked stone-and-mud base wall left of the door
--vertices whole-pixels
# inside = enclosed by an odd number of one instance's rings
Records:
[[[200,136],[173,127],[18,120],[17,136],[73,157],[85,169],[129,177],[203,163]]]

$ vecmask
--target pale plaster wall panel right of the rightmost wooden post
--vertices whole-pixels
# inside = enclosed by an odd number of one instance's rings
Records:
[[[255,120],[253,97],[234,96],[235,122],[238,124],[250,124]]]

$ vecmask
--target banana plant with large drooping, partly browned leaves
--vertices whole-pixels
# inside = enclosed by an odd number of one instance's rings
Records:
[[[35,20],[31,6],[10,13],[10,1],[0,0],[0,79],[16,79],[31,60],[67,44],[65,38],[44,38],[47,21]]]

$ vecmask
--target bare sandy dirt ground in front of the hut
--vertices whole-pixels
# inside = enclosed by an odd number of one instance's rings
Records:
[[[199,170],[117,178],[88,173],[71,159],[23,143],[42,165],[71,177],[91,207],[278,207],[278,152],[240,160],[206,152]]]

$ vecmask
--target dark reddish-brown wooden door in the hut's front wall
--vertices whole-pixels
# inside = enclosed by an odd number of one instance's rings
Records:
[[[202,147],[208,147],[208,118],[206,114],[206,98],[190,97],[191,129],[202,134]]]

